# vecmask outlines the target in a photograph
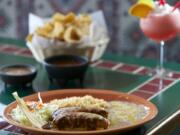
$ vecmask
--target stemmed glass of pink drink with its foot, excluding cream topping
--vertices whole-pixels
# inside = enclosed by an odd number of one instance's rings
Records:
[[[149,14],[147,17],[140,19],[140,28],[148,38],[160,43],[160,60],[154,73],[161,78],[172,76],[172,73],[164,69],[164,44],[165,41],[178,35],[180,13],[172,11],[168,14]]]

